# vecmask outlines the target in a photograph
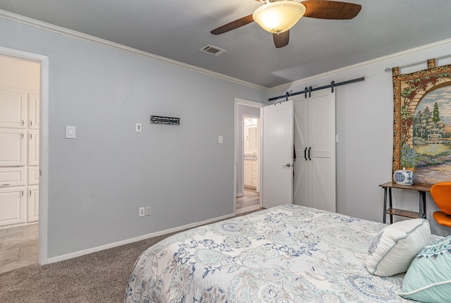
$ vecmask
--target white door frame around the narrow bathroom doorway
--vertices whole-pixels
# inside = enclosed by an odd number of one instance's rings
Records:
[[[242,139],[242,134],[240,136],[240,134],[238,133],[238,127],[239,125],[243,124],[242,123],[242,116],[238,117],[238,112],[237,112],[237,107],[238,105],[245,105],[245,106],[251,106],[251,107],[257,107],[260,109],[260,125],[259,125],[259,205],[261,208],[262,205],[262,199],[261,197],[263,197],[263,187],[262,187],[262,183],[261,180],[262,178],[262,169],[261,169],[261,163],[263,163],[263,106],[264,104],[256,102],[256,101],[249,101],[246,99],[240,99],[240,98],[235,98],[235,106],[233,107],[233,117],[235,119],[235,123],[234,124],[234,134],[235,134],[235,140],[233,140],[234,142],[234,155],[233,155],[233,214],[236,214],[236,203],[237,203],[237,160],[238,160],[238,154],[242,151],[238,150],[238,142],[240,140],[240,138]],[[243,167],[243,171],[242,171],[243,175],[244,175],[244,167]],[[244,180],[243,180],[243,184],[244,184]]]

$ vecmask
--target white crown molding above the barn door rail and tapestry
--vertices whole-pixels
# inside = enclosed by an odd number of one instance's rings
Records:
[[[307,77],[307,78],[304,78],[304,79],[299,79],[299,80],[296,80],[296,81],[293,81],[293,82],[285,83],[283,85],[278,85],[278,86],[275,86],[275,87],[271,87],[271,88],[269,88],[269,91],[271,92],[271,91],[276,90],[276,89],[288,88],[288,87],[291,87],[293,85],[302,84],[302,83],[310,81],[310,80],[323,78],[326,75],[333,75],[335,73],[341,73],[341,72],[346,71],[346,70],[352,70],[354,68],[359,68],[359,67],[362,67],[362,66],[368,66],[368,65],[373,64],[373,63],[378,63],[378,62],[382,62],[382,61],[388,61],[390,59],[397,58],[397,57],[400,57],[400,56],[406,56],[406,55],[410,55],[410,54],[415,54],[415,53],[418,53],[420,51],[426,51],[428,49],[433,49],[435,47],[440,47],[440,46],[445,45],[445,44],[451,44],[451,39],[446,39],[446,40],[442,40],[442,41],[439,41],[439,42],[426,44],[426,45],[423,45],[421,47],[416,47],[414,49],[407,49],[406,51],[400,51],[400,52],[395,53],[395,54],[390,54],[390,55],[387,55],[387,56],[374,58],[374,59],[371,59],[369,61],[364,61],[364,62],[360,62],[360,63],[354,64],[352,66],[345,66],[344,68],[338,68],[336,70],[330,70],[327,73],[322,73],[322,74],[319,74],[319,75],[314,75],[314,76]],[[428,58],[425,58],[424,61],[426,62],[427,59]]]

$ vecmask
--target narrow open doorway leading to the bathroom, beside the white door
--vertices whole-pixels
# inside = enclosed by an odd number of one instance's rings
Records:
[[[235,214],[261,208],[261,110],[235,99]]]

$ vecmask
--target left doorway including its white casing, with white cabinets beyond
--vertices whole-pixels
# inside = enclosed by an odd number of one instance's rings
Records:
[[[0,241],[8,241],[8,245],[18,243],[18,247],[2,252],[2,256],[8,257],[2,258],[0,271],[9,271],[30,264],[47,264],[49,61],[47,56],[0,47],[0,63],[0,88],[4,93],[1,101],[3,108],[8,109],[1,111],[0,129],[23,137],[23,143],[3,149],[0,156],[5,160],[0,164],[3,172],[0,190],[6,194],[3,206],[8,209],[8,214],[0,216],[3,219]],[[2,147],[14,138],[5,135]],[[20,206],[19,211],[13,211],[11,206],[15,205]],[[19,238],[22,240],[17,241]],[[6,245],[0,246],[6,249]]]

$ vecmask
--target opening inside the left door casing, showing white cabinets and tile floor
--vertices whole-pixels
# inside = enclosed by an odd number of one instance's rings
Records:
[[[38,263],[40,68],[0,56],[0,272]]]

